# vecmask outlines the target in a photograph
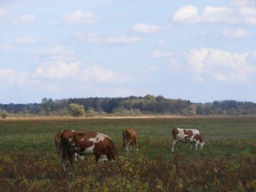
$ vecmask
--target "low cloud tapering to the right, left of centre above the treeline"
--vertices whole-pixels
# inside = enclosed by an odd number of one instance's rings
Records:
[[[97,82],[97,83],[125,83],[133,81],[131,76],[117,74],[109,68],[93,65],[85,68],[79,78],[80,81]]]

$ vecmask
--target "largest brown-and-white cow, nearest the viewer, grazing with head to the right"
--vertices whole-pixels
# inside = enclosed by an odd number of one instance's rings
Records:
[[[94,154],[96,163],[99,162],[100,156],[107,156],[108,160],[118,158],[115,145],[109,136],[97,132],[70,132],[63,131],[61,134],[61,166],[65,168],[65,160],[68,161],[74,168],[74,154],[81,156],[89,156]]]

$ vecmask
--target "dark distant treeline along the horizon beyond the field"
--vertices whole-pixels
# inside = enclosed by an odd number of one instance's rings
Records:
[[[0,113],[15,115],[70,115],[68,106],[84,106],[86,115],[255,115],[256,104],[236,100],[214,101],[212,103],[191,103],[189,100],[167,99],[159,95],[118,98],[42,99],[40,104],[0,104]]]

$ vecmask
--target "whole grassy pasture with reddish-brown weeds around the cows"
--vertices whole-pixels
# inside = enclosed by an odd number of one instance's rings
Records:
[[[129,127],[138,152],[122,150]],[[198,129],[204,150],[178,143],[172,153],[173,127]],[[63,172],[54,146],[63,129],[108,134],[122,158],[89,156]],[[256,191],[256,117],[0,120],[0,191]]]

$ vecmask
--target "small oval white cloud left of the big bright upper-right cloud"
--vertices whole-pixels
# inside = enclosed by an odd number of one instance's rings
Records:
[[[132,27],[132,30],[142,34],[154,34],[154,33],[159,33],[160,31],[163,30],[163,28],[157,25],[139,23],[134,25]]]

